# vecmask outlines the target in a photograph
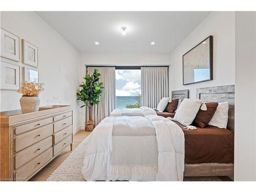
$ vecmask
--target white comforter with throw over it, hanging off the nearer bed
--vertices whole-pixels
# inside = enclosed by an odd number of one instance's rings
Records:
[[[87,181],[183,180],[184,134],[164,117],[106,117],[86,142]]]

